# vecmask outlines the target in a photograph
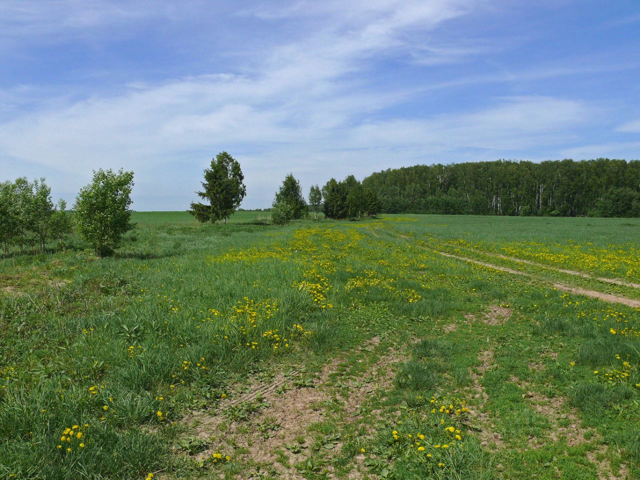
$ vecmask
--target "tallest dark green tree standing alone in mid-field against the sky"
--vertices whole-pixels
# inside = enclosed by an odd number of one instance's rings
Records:
[[[203,191],[196,194],[209,204],[191,203],[190,214],[204,223],[222,220],[227,223],[246,195],[246,185],[240,164],[227,152],[220,152],[211,160],[211,168],[204,170]]]

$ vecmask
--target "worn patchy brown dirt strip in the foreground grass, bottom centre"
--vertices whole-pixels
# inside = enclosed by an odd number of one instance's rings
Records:
[[[377,337],[350,353],[330,360],[317,378],[303,378],[302,371],[280,374],[275,380],[256,381],[244,388],[244,393],[223,400],[211,411],[195,412],[186,422],[195,438],[207,447],[193,455],[195,460],[211,458],[215,454],[229,454],[237,465],[243,465],[239,478],[260,477],[262,474],[287,479],[302,479],[301,463],[321,457],[330,462],[340,450],[341,440],[314,449],[314,424],[325,422],[331,413],[329,404],[337,399],[344,422],[353,420],[367,397],[380,388],[388,388],[394,378],[392,365],[399,359],[391,348],[376,355],[380,344]],[[366,365],[360,376],[350,381],[342,370],[353,364]],[[340,381],[335,382],[333,377]],[[380,379],[380,383],[378,383]],[[335,426],[335,431],[342,428]],[[356,465],[353,465],[356,468]]]

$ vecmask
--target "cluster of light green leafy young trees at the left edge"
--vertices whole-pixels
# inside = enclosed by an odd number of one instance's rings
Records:
[[[64,200],[56,205],[45,179],[20,177],[0,183],[0,242],[5,254],[12,248],[44,253],[47,241],[63,246],[72,232],[84,239],[96,255],[113,252],[131,230],[133,172],[97,170],[76,197],[73,211]]]

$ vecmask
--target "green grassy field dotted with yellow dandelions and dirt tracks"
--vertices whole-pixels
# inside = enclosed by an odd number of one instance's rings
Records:
[[[0,478],[640,477],[640,221],[263,216],[0,259]]]

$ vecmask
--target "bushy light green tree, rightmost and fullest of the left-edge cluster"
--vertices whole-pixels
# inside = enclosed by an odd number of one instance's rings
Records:
[[[133,172],[100,168],[78,193],[74,204],[77,231],[96,255],[113,252],[122,236],[133,228],[129,221],[132,188]]]

